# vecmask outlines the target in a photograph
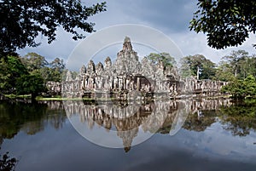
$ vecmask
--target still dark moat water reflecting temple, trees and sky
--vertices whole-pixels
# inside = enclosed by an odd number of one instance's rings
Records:
[[[255,100],[0,101],[0,135],[17,171],[256,168]]]

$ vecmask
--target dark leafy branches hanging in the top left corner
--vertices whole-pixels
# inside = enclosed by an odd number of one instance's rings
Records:
[[[3,0],[0,3],[0,56],[26,46],[36,47],[38,35],[55,40],[56,29],[62,26],[73,34],[73,39],[83,38],[77,29],[92,32],[94,23],[87,19],[106,10],[106,3],[84,6],[80,0]]]

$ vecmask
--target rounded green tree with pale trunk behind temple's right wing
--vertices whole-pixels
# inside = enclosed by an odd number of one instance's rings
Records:
[[[215,64],[201,54],[189,55],[182,59],[182,73],[196,76],[197,79],[212,79],[215,76]]]

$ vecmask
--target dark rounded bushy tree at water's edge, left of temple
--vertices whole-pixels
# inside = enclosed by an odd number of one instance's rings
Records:
[[[32,94],[32,100],[35,100],[39,93],[46,91],[44,79],[40,75],[23,75],[17,79],[17,94]]]

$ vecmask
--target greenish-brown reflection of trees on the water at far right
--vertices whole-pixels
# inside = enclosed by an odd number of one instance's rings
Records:
[[[183,128],[201,132],[219,122],[234,136],[246,136],[256,131],[256,100],[246,100],[232,105],[218,105],[218,108],[201,109],[191,112]]]

